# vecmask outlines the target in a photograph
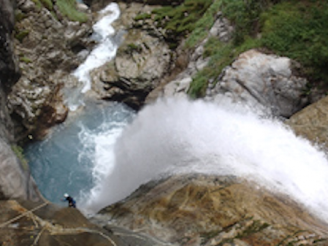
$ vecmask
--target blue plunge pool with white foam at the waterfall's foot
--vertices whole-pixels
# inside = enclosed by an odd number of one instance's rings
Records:
[[[133,115],[124,105],[87,101],[85,111],[70,114],[46,140],[27,146],[25,155],[42,194],[60,203],[67,192],[80,207],[113,168],[114,143]]]

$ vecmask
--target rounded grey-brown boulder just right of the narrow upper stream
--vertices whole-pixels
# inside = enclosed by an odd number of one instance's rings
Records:
[[[126,30],[124,40],[115,58],[91,73],[93,90],[101,98],[121,101],[139,109],[148,93],[167,74],[171,50],[164,40],[152,35],[146,26],[130,28],[134,25],[136,13],[148,12],[151,7],[120,4],[120,9],[120,19],[114,25],[116,29]]]

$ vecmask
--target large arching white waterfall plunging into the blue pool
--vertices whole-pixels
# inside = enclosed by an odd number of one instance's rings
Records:
[[[253,180],[290,195],[328,221],[325,153],[278,120],[249,108],[223,102],[158,101],[126,127],[114,154],[114,163],[103,170],[104,179],[84,208],[89,213],[125,198],[163,172],[197,172]],[[108,163],[112,157],[98,161]]]

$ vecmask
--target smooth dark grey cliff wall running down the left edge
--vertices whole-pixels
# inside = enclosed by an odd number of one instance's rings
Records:
[[[19,77],[13,52],[14,11],[10,1],[0,3],[0,199],[25,198],[38,200],[39,193],[28,167],[11,148],[13,124],[7,108],[7,93]]]

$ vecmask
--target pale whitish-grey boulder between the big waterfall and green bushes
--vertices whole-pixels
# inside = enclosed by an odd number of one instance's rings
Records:
[[[210,83],[207,99],[219,102],[228,96],[288,118],[309,103],[304,93],[308,81],[295,73],[296,68],[299,65],[290,58],[249,50]]]

